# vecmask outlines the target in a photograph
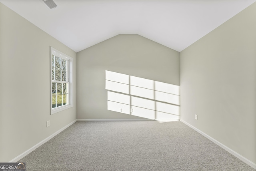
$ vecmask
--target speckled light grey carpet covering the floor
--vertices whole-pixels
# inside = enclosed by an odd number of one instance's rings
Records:
[[[26,171],[256,171],[180,121],[76,122],[20,162]]]

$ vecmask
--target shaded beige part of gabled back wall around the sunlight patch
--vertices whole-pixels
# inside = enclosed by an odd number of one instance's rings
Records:
[[[107,110],[105,71],[179,85],[179,52],[139,35],[118,35],[77,53],[77,119],[136,119]]]

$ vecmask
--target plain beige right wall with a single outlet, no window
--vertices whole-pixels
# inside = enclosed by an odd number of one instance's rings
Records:
[[[253,163],[255,16],[256,3],[180,53],[181,119]]]

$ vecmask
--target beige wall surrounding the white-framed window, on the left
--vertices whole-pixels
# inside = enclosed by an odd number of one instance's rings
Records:
[[[76,88],[74,107],[50,115],[50,46],[76,66],[76,52],[0,3],[0,162],[76,119]]]

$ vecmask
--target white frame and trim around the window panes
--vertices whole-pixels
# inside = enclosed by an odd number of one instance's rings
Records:
[[[68,60],[68,104],[52,108],[52,55]],[[57,99],[56,99],[57,100]],[[73,107],[73,58],[50,47],[50,114]]]

